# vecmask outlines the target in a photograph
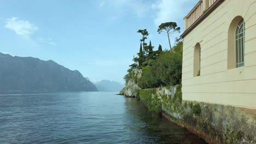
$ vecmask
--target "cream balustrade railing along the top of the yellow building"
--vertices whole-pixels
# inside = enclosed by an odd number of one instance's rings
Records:
[[[200,0],[184,18],[184,31],[193,25],[193,23],[216,1],[217,0]]]

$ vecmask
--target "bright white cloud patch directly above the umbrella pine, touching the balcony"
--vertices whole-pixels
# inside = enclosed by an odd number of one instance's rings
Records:
[[[179,21],[194,7],[198,0],[158,0],[152,4],[155,11],[154,22],[159,26],[163,22]]]

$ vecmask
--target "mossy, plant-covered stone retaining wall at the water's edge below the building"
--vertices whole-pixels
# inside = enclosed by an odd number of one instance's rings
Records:
[[[140,89],[138,98],[162,115],[209,143],[256,143],[256,110],[228,105],[182,101],[181,85]]]

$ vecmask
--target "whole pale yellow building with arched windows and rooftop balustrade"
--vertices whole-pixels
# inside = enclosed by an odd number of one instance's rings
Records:
[[[256,109],[256,0],[200,0],[184,28],[183,100]]]

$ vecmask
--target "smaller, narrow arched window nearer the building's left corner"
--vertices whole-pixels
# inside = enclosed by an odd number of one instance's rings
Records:
[[[194,76],[200,76],[200,67],[201,67],[201,46],[199,43],[195,45],[194,50]]]

